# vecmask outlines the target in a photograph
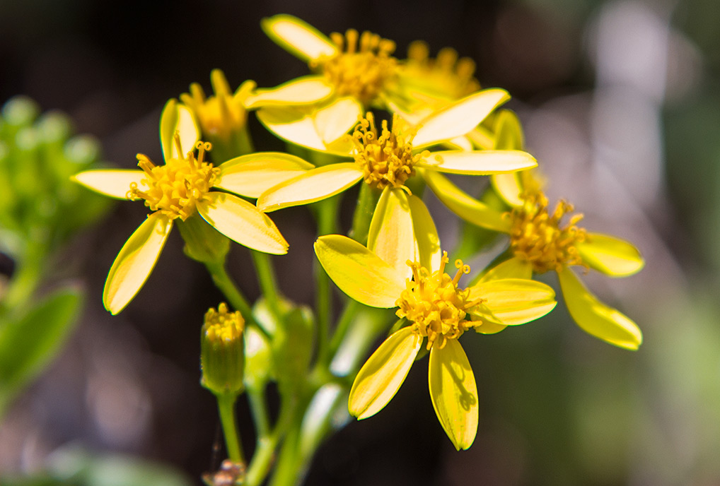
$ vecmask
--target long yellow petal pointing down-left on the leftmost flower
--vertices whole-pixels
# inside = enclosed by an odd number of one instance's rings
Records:
[[[127,239],[110,267],[102,293],[102,302],[110,313],[122,311],[143,287],[172,227],[171,219],[156,211]]]

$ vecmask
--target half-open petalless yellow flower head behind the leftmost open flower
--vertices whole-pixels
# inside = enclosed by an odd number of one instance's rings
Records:
[[[246,133],[248,113],[244,103],[255,88],[255,82],[246,81],[233,94],[222,70],[212,70],[210,81],[215,92],[213,96],[206,97],[202,86],[192,83],[190,93],[182,93],[180,101],[194,112],[204,137],[228,143],[233,135]]]

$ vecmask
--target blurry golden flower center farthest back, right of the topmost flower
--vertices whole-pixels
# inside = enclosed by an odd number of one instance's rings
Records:
[[[462,98],[480,89],[480,83],[474,77],[474,61],[459,58],[451,47],[444,47],[432,59],[426,42],[411,42],[404,69],[413,75],[413,81],[418,85],[451,99]]]

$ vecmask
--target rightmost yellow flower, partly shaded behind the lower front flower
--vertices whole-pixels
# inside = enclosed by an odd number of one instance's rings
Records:
[[[505,139],[504,144],[518,143],[520,124],[514,116],[507,119],[498,136]],[[551,209],[541,184],[529,171],[520,178],[496,182],[506,201],[518,201],[504,214],[467,195],[441,174],[427,180],[438,198],[445,199],[463,219],[509,235],[510,258],[492,268],[486,278],[531,278],[557,272],[567,310],[581,329],[625,349],[642,344],[642,332],[634,321],[600,302],[570,268],[591,268],[611,277],[633,275],[642,270],[644,260],[632,244],[578,226],[582,214],[573,215],[574,208],[566,201]]]

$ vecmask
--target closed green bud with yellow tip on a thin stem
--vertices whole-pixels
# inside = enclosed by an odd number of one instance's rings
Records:
[[[243,316],[228,312],[225,303],[205,313],[200,337],[202,385],[216,395],[243,393],[244,330]]]

